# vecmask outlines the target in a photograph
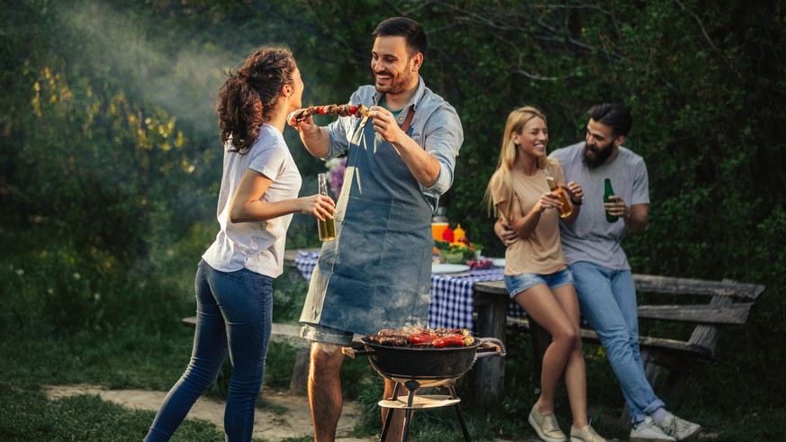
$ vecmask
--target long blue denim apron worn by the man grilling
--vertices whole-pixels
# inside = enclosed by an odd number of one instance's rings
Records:
[[[301,321],[361,335],[425,327],[431,206],[393,145],[363,122],[349,137],[337,236],[322,244]]]

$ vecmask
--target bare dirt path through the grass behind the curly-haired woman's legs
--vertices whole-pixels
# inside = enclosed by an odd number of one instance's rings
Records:
[[[50,400],[82,394],[98,395],[104,401],[113,401],[132,410],[158,411],[167,392],[148,390],[104,390],[95,385],[60,385],[47,388]],[[257,409],[254,419],[254,437],[271,442],[287,437],[312,435],[312,418],[308,400],[303,396],[288,395],[284,392],[270,392],[263,389],[262,396],[286,411]],[[277,408],[277,407],[271,407]],[[202,419],[223,428],[224,402],[211,398],[201,398],[188,413],[187,419]],[[337,442],[369,442],[376,437],[356,438],[348,434],[360,415],[354,402],[345,402],[339,419]]]

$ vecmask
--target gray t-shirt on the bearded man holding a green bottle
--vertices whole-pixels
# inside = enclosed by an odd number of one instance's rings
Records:
[[[565,171],[565,182],[575,181],[584,190],[584,203],[572,225],[559,223],[562,247],[567,263],[588,261],[614,270],[629,270],[628,257],[620,246],[625,236],[625,222],[606,221],[603,207],[604,180],[609,178],[614,194],[628,206],[649,203],[649,179],[644,158],[620,147],[610,164],[590,168],[582,157],[584,142],[556,149],[549,158],[556,158]]]

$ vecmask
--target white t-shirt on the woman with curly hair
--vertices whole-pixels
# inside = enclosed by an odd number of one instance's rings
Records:
[[[221,272],[235,272],[245,267],[254,273],[275,278],[284,272],[286,230],[292,221],[292,214],[268,221],[229,221],[232,195],[249,168],[273,180],[260,201],[297,198],[303,178],[284,136],[275,127],[263,124],[259,128],[257,141],[245,155],[224,149],[223,176],[216,214],[221,230],[212,246],[204,252],[203,259]]]

